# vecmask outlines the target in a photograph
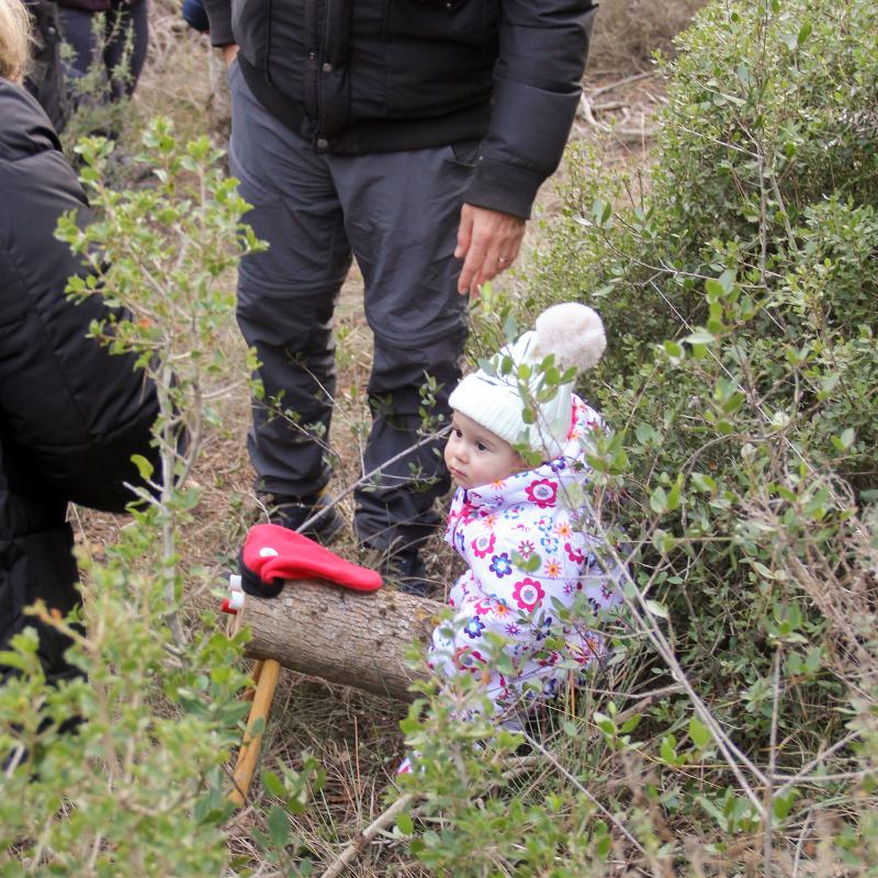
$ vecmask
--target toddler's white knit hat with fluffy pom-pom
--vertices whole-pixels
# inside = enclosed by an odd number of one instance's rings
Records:
[[[540,365],[553,353],[561,374],[578,373],[595,365],[606,347],[597,312],[576,302],[553,305],[537,318],[536,330],[503,348],[487,369],[466,375],[449,405],[510,444],[526,444],[552,460],[563,453],[570,432],[573,382],[552,393]],[[525,421],[529,406],[536,407],[532,424]]]

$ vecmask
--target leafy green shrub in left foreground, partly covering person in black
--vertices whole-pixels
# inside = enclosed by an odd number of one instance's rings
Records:
[[[206,138],[183,147],[157,120],[144,146],[153,185],[125,193],[103,182],[112,146],[80,147],[95,219],[80,229],[65,217],[59,237],[97,272],[71,279],[71,294],[100,290],[126,308],[91,331],[135,352],[156,383],[160,486],[103,547],[105,562],[80,554],[82,628],[35,609],[72,638],[68,658],[83,678],[47,686],[32,629],[3,654],[22,673],[0,688],[2,875],[204,876],[228,859],[223,769],[247,710],[244,638],[218,630],[216,614],[195,617],[184,587],[206,588],[210,573],[181,558],[180,525],[199,502],[187,477],[227,373],[218,333],[234,296],[224,274],[257,244]],[[76,733],[59,731],[71,718]]]

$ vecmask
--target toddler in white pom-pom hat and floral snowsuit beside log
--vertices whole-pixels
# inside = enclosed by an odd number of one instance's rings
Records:
[[[444,460],[458,488],[446,541],[469,567],[451,588],[454,618],[434,631],[429,663],[444,677],[479,675],[493,719],[509,729],[521,728],[527,706],[559,691],[570,675],[564,660],[584,668],[605,653],[600,634],[575,619],[560,623],[559,610],[579,594],[595,611],[621,599],[622,570],[609,556],[598,561],[604,540],[589,511],[583,440],[604,423],[573,393],[572,381],[553,390],[539,368],[554,354],[561,375],[578,372],[605,347],[592,308],[555,305],[536,331],[464,378],[450,397]],[[529,466],[516,448],[542,462]],[[511,673],[491,666],[488,632],[504,639]],[[563,650],[545,649],[550,634],[563,638]]]

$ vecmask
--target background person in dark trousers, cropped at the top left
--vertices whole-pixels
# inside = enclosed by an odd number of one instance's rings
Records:
[[[147,0],[57,0],[64,40],[72,48],[69,75],[85,77],[101,53],[104,102],[131,97],[146,63],[149,42]],[[98,15],[102,25],[95,33]]]

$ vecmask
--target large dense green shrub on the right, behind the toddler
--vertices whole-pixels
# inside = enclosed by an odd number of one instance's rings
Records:
[[[598,772],[551,747],[643,868],[874,874],[878,7],[713,2],[678,47],[646,184],[573,148],[531,292],[476,313],[488,349],[559,301],[607,325],[592,463],[639,555],[605,698],[663,695],[567,717]]]

